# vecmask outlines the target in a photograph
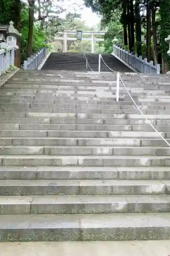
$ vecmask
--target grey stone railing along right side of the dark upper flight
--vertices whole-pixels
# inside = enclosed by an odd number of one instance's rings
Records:
[[[153,61],[148,62],[147,58],[142,59],[142,56],[137,57],[136,54],[134,55],[115,44],[113,45],[113,54],[140,73],[160,74],[159,64],[154,66]]]

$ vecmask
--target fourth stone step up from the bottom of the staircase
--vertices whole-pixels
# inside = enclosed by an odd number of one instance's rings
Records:
[[[0,166],[1,180],[166,180],[170,167]]]

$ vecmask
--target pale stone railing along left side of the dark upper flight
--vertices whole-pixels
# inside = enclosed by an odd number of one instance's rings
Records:
[[[36,70],[48,53],[48,48],[42,48],[23,62],[23,69]]]

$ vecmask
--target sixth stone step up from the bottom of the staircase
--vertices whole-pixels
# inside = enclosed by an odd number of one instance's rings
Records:
[[[169,156],[169,147],[0,146],[0,155]]]

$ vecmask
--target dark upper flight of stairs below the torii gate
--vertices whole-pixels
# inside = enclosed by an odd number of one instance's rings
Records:
[[[93,71],[99,69],[99,54],[86,54],[90,68]],[[104,61],[114,71],[132,72],[124,63],[119,61],[111,54],[102,54]],[[70,71],[86,71],[86,60],[82,53],[51,53],[44,63],[43,70],[70,70]],[[87,71],[90,71],[88,68]],[[105,66],[101,60],[101,72],[109,72],[110,70]]]

